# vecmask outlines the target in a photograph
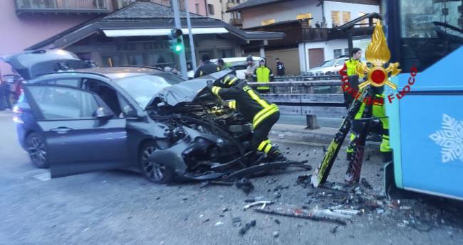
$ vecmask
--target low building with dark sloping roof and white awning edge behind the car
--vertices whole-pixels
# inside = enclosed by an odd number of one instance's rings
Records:
[[[180,12],[182,31],[188,33],[186,13]],[[268,40],[283,38],[282,33],[242,31],[214,18],[191,14],[196,60],[204,54],[211,58],[240,57],[241,45],[264,45]],[[76,53],[83,60],[97,65],[179,67],[178,55],[170,47],[169,35],[175,28],[173,13],[168,6],[137,1],[107,16],[87,21],[51,38],[42,40],[28,50],[61,48]],[[188,36],[184,47],[189,67],[192,55]]]

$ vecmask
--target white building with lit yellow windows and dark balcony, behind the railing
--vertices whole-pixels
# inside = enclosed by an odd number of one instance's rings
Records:
[[[265,55],[269,66],[275,66],[274,58],[284,59],[287,73],[297,75],[324,60],[348,55],[348,35],[338,27],[367,13],[380,13],[380,1],[249,0],[228,11],[241,13],[245,30],[286,33],[283,40],[269,43]],[[368,20],[363,23],[367,26]],[[258,54],[254,47],[246,52]]]

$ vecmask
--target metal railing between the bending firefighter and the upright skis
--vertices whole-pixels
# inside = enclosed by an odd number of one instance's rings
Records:
[[[327,79],[327,80],[323,80]],[[328,80],[329,79],[329,80]],[[319,117],[341,118],[347,109],[340,80],[333,77],[279,77],[284,82],[269,82],[269,94],[266,99],[279,105],[281,114],[315,114]],[[290,81],[288,81],[290,80]],[[249,82],[251,87],[261,83]]]

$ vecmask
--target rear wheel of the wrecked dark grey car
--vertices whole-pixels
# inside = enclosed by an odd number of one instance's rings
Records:
[[[48,168],[46,158],[45,139],[37,133],[29,134],[26,138],[26,149],[33,165],[37,168]]]

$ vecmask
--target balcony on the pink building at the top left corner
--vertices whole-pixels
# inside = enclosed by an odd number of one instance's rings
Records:
[[[15,0],[16,13],[110,13],[107,0]]]

